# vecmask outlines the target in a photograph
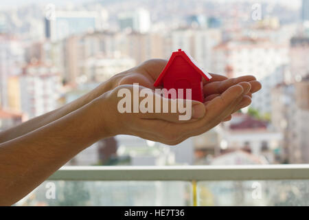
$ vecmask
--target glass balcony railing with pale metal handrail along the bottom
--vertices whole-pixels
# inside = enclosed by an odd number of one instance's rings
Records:
[[[65,166],[16,206],[309,206],[309,165]]]

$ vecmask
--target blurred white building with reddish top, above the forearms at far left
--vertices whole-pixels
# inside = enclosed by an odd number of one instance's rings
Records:
[[[55,67],[30,63],[20,76],[21,110],[33,118],[56,109],[60,87],[60,75]]]

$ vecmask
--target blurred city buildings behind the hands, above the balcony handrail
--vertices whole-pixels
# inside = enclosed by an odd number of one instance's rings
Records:
[[[179,48],[207,72],[253,74],[262,90],[230,122],[179,146],[119,135],[67,165],[309,163],[309,0],[24,1],[1,7],[0,130]]]

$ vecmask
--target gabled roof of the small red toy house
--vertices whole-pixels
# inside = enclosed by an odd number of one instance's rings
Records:
[[[203,68],[198,67],[198,64],[196,63],[196,61],[194,61],[194,58],[192,58],[192,56],[190,56],[190,54],[187,54],[186,52],[182,51],[181,49],[178,50],[178,52],[173,52],[172,56],[170,57],[170,60],[168,61],[168,63],[166,64],[166,66],[164,67],[163,71],[161,72],[160,76],[157,78],[157,80],[155,81],[154,86],[157,87],[161,84],[161,80],[163,79],[163,77],[165,76],[166,72],[168,72],[168,69],[170,68],[170,66],[172,65],[174,59],[176,58],[176,56],[181,56],[182,58],[185,59],[185,61],[187,61],[187,63],[189,65],[191,65],[196,72],[198,72],[198,74],[201,74],[201,76],[203,78],[205,78],[205,80],[210,80],[211,76],[210,74],[208,74],[207,72],[205,72],[203,70]]]

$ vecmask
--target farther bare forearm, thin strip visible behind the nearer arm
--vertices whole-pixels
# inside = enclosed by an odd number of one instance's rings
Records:
[[[114,76],[110,80],[107,80],[97,88],[93,89],[93,91],[85,94],[77,100],[74,100],[73,102],[70,102],[69,104],[66,104],[63,107],[60,107],[59,109],[50,111],[48,113],[45,113],[44,115],[28,120],[27,122],[24,122],[19,126],[15,126],[11,129],[0,132],[0,143],[7,142],[8,140],[20,137],[21,135],[25,135],[26,133],[40,128],[41,126],[45,126],[46,124],[58,120],[59,118],[67,115],[68,113],[71,113],[72,111],[76,111],[76,109],[79,109],[85,104],[91,102],[91,100],[98,98],[98,96],[104,94],[104,92],[113,88],[115,86],[114,84],[116,78],[117,76]]]

